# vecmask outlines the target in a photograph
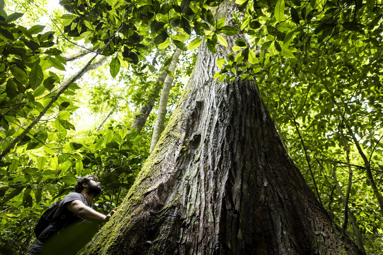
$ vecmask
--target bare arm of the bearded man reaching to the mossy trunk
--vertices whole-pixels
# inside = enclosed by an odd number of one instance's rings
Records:
[[[88,221],[98,221],[98,222],[107,222],[109,221],[110,217],[117,211],[118,207],[116,207],[113,211],[111,211],[108,215],[104,215],[101,213],[98,213],[97,211],[93,210],[92,208],[86,206],[82,201],[80,200],[73,200],[68,203],[66,203],[66,208],[71,211],[72,213],[77,214],[83,219],[86,219]]]

